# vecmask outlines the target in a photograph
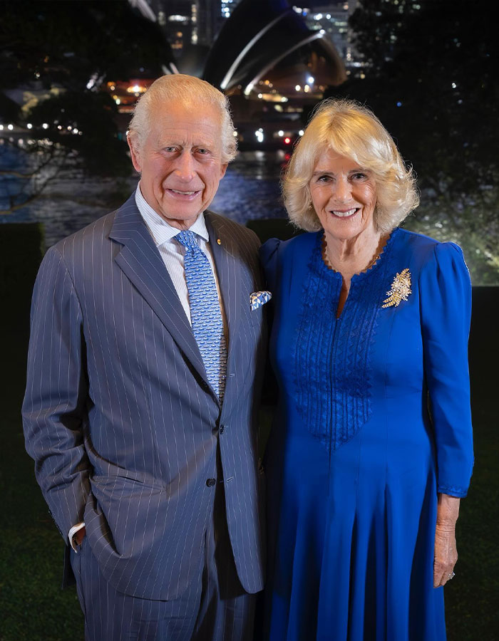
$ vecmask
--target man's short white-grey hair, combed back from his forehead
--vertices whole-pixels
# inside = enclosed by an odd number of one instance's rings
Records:
[[[222,163],[235,159],[237,140],[227,97],[205,80],[182,73],[162,75],[138,100],[128,132],[134,147],[138,150],[143,147],[150,131],[155,105],[168,103],[170,100],[178,100],[186,106],[194,105],[200,112],[205,105],[218,109],[222,131]]]

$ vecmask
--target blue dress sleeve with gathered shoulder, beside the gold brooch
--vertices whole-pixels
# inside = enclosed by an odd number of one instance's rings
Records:
[[[435,245],[421,270],[426,381],[438,462],[437,489],[466,496],[473,470],[468,335],[471,283],[461,248]]]

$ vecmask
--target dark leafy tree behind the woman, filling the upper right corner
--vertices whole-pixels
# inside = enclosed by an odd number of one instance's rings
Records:
[[[475,273],[497,280],[499,38],[490,2],[361,0],[351,26],[365,78],[331,95],[366,103],[413,165],[423,198],[411,226],[460,241],[481,260]]]

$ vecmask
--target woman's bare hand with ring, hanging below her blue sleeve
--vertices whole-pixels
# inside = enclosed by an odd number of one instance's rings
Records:
[[[438,494],[433,588],[446,585],[453,577],[454,566],[458,560],[456,521],[459,516],[459,501],[456,496]]]

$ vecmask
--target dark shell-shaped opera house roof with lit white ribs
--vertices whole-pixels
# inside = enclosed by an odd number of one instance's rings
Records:
[[[211,48],[203,78],[226,93],[251,96],[269,87],[280,95],[295,87],[315,93],[346,75],[324,31],[309,30],[286,0],[242,0]]]

